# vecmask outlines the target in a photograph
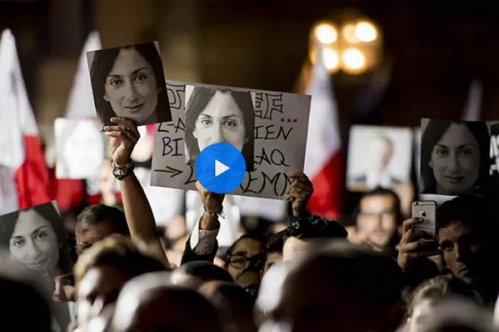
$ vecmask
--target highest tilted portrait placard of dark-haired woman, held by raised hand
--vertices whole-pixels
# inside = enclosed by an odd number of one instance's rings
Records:
[[[92,58],[93,57],[93,58]],[[93,99],[104,125],[123,116],[137,125],[170,121],[160,53],[154,43],[88,52]]]

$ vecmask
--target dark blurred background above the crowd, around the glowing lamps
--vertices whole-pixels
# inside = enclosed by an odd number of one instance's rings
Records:
[[[353,123],[416,126],[423,117],[461,118],[474,79],[483,85],[482,120],[499,118],[499,4],[493,2],[0,2],[0,28],[16,37],[42,135],[64,113],[90,31],[101,33],[103,47],[160,41],[171,80],[294,92],[314,22],[359,15],[381,30],[380,66],[389,68],[389,84],[366,107],[372,72],[334,76],[344,144]]]

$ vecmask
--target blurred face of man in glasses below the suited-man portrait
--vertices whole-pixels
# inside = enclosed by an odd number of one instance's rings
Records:
[[[397,229],[395,201],[391,195],[373,195],[361,199],[356,228],[367,242],[386,247]]]

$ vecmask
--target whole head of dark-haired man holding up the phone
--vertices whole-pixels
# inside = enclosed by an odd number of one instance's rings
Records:
[[[443,259],[454,276],[473,288],[497,284],[495,264],[498,232],[493,205],[488,199],[460,196],[437,211],[437,239]]]

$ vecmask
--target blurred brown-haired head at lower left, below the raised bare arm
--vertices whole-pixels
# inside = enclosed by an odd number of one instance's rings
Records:
[[[78,323],[83,326],[100,315],[134,276],[165,270],[160,260],[145,254],[125,237],[108,237],[96,243],[74,267]]]

